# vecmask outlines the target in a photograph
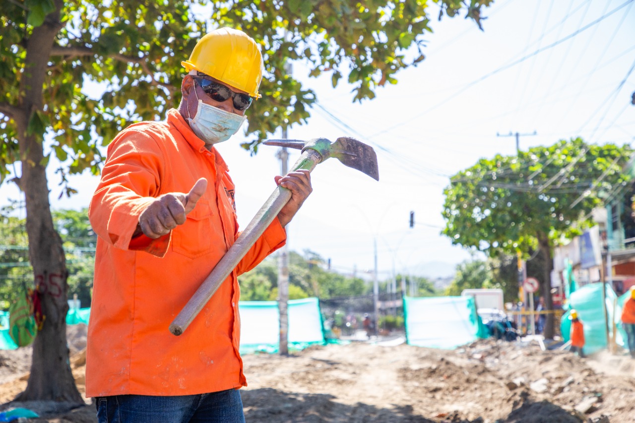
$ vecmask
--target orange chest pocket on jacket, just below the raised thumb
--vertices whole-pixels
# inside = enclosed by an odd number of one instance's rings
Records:
[[[199,199],[194,210],[187,215],[184,224],[172,232],[172,251],[189,258],[196,258],[211,250],[210,203]]]

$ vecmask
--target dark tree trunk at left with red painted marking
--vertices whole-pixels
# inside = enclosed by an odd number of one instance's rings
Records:
[[[62,239],[53,227],[46,166],[43,164],[41,134],[29,134],[29,119],[43,110],[43,84],[55,36],[63,27],[60,23],[62,0],[55,1],[56,11],[46,17],[44,24],[34,28],[27,40],[25,69],[20,81],[22,111],[17,120],[22,176],[20,187],[25,192],[29,260],[33,266],[36,285],[42,294],[45,320],[33,343],[33,359],[27,389],[16,400],[53,400],[83,403],[77,391],[69,365],[66,344],[67,302],[66,260]]]

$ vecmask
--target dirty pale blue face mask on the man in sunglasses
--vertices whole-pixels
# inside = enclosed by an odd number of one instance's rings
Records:
[[[194,119],[187,118],[192,131],[208,145],[229,140],[229,137],[234,135],[246,120],[246,116],[225,112],[213,105],[204,104],[203,100],[199,100]]]

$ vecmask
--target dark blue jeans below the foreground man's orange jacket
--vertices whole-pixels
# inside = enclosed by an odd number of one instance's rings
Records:
[[[183,396],[100,396],[95,400],[99,423],[244,423],[237,389]]]

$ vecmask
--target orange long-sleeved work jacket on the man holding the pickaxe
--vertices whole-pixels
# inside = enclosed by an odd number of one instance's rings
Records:
[[[158,239],[131,239],[153,198],[205,194],[187,222]],[[121,131],[108,147],[88,211],[98,234],[88,325],[86,396],[189,395],[246,386],[238,348],[237,275],[284,245],[277,218],[180,336],[168,327],[239,233],[234,184],[216,149],[208,151],[178,111],[166,122]]]

